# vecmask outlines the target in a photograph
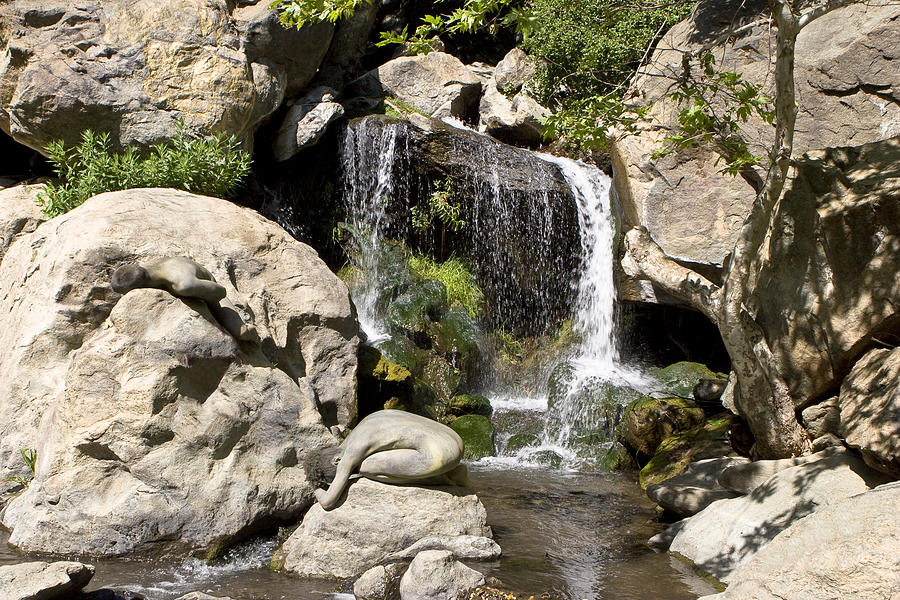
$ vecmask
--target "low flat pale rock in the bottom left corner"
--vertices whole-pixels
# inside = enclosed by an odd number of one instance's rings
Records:
[[[0,566],[3,600],[73,598],[94,576],[94,567],[79,562],[28,562]]]

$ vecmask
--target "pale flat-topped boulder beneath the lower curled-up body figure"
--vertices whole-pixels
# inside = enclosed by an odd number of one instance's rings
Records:
[[[486,519],[484,506],[467,488],[357,479],[337,508],[313,506],[273,562],[302,577],[356,577],[395,562],[395,553],[406,554],[423,538],[490,537]]]

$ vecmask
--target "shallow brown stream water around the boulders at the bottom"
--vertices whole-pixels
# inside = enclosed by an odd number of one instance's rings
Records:
[[[526,598],[547,592],[565,600],[689,600],[714,591],[677,560],[647,547],[661,526],[629,475],[476,464],[472,482],[503,548],[499,560],[473,566]],[[37,559],[6,548],[6,538],[0,537],[0,564]],[[257,540],[212,565],[198,559],[89,560],[97,573],[87,589],[112,588],[147,600],[195,590],[235,600],[352,599],[340,594],[348,584],[266,569],[275,545]]]

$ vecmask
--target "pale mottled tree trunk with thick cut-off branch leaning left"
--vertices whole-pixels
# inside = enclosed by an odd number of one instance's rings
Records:
[[[629,275],[649,279],[718,326],[737,377],[738,407],[756,439],[754,453],[762,458],[796,456],[810,448],[780,365],[745,304],[791,165],[797,117],[794,48],[805,25],[851,1],[831,0],[799,14],[788,0],[769,0],[776,24],[775,141],[764,185],[755,194],[722,285],[716,286],[668,257],[646,229],[635,228],[625,236],[622,265]]]

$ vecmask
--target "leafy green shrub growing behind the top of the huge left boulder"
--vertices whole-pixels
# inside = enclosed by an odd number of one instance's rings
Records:
[[[250,155],[239,145],[234,136],[197,138],[182,131],[142,156],[133,147],[113,153],[109,134],[87,130],[74,148],[61,140],[47,146],[59,181],[48,183],[38,201],[47,216],[55,217],[97,194],[136,187],[173,187],[225,198],[250,172]]]

